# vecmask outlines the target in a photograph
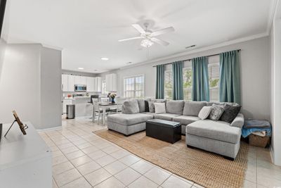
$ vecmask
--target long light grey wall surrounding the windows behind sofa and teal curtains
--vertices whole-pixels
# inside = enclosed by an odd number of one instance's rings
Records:
[[[224,51],[241,49],[241,89],[242,89],[242,113],[247,118],[270,118],[269,101],[269,37],[253,39],[247,42],[240,42],[229,46],[223,46],[208,51],[202,51],[187,56],[178,56],[164,61],[138,65],[131,68],[123,68],[111,71],[117,73],[117,92],[123,95],[123,77],[129,75],[145,75],[145,96],[155,96],[156,68],[153,65],[160,63],[170,63],[178,60],[185,60],[198,56],[208,56]],[[216,60],[214,60],[216,59]],[[218,61],[214,57],[211,61]],[[186,64],[186,63],[185,63]],[[105,77],[107,73],[100,74]]]

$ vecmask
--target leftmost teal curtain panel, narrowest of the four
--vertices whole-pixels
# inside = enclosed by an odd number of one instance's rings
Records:
[[[156,66],[156,99],[164,99],[164,65]]]

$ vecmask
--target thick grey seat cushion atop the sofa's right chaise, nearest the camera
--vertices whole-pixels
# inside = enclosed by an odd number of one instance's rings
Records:
[[[236,144],[240,142],[241,129],[224,121],[198,120],[185,128],[186,133]]]

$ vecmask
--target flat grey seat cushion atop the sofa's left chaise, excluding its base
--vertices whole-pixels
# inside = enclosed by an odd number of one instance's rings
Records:
[[[119,123],[121,125],[135,125],[138,123],[144,123],[147,120],[153,118],[153,115],[143,114],[143,113],[133,113],[133,114],[124,114],[116,113],[112,115],[107,115],[107,121],[112,123]]]

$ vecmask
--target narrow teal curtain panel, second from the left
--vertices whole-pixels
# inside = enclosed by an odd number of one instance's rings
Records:
[[[172,63],[173,67],[173,99],[183,100],[183,61]]]

